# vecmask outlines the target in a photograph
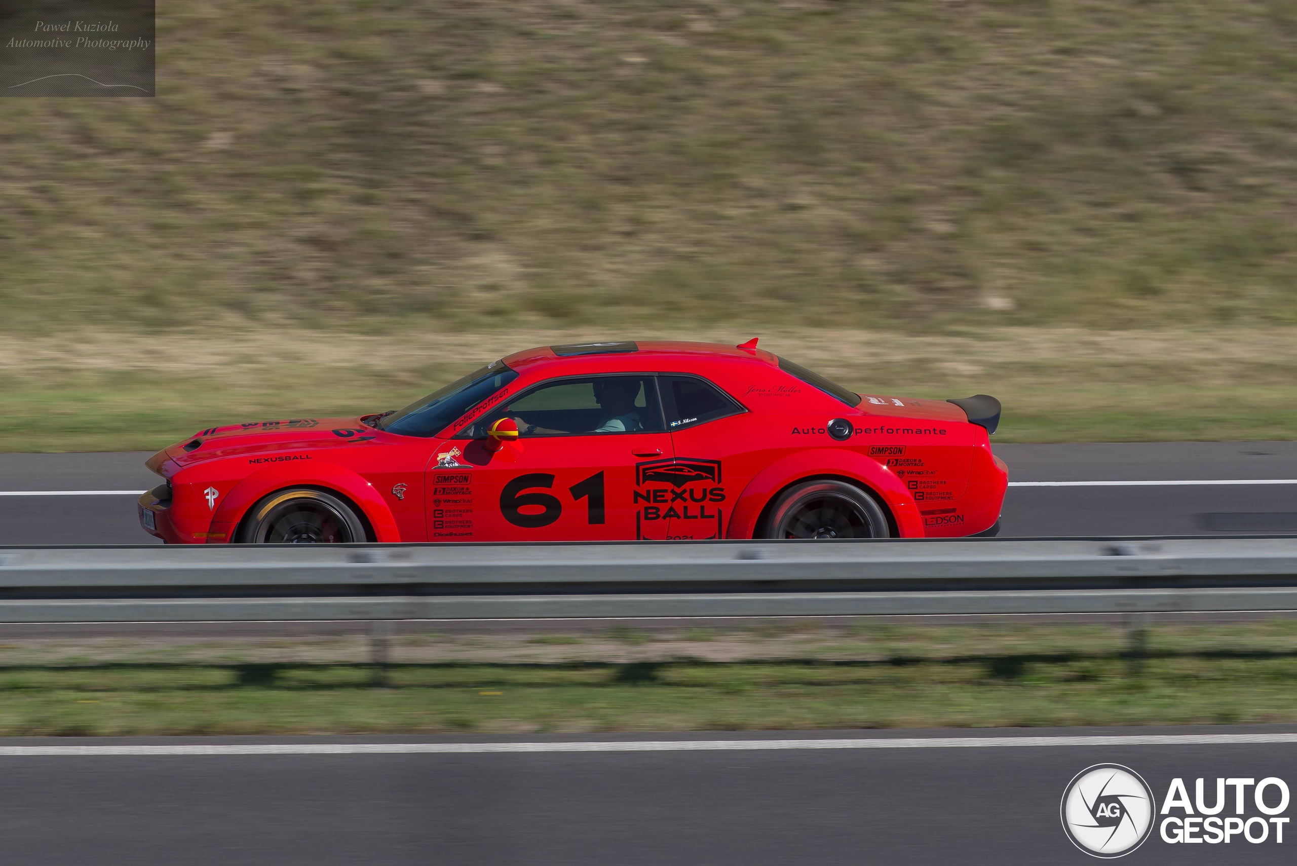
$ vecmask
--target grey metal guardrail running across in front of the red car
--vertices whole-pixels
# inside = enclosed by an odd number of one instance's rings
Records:
[[[1297,537],[0,548],[0,622],[1297,609]]]

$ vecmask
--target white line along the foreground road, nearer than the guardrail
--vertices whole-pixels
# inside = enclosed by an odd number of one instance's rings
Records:
[[[519,755],[543,752],[774,752],[961,749],[1077,745],[1297,744],[1297,734],[1136,734],[1130,736],[931,736],[837,740],[623,740],[607,743],[274,743],[175,745],[0,745],[0,757],[165,755]]]

